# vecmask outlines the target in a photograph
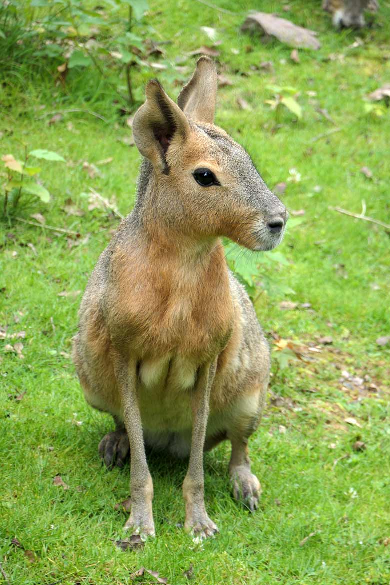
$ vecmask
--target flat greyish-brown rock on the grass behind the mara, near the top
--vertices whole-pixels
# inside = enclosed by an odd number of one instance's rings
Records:
[[[250,12],[243,26],[243,32],[260,33],[268,37],[275,37],[281,43],[291,47],[303,49],[319,49],[321,44],[316,39],[317,33],[313,30],[296,26],[287,19],[279,18],[265,12]]]

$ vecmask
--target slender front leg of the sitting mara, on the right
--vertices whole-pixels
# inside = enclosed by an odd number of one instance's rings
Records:
[[[185,499],[185,529],[201,539],[218,532],[205,507],[205,478],[203,448],[210,409],[210,390],[215,377],[216,363],[203,366],[191,396],[192,443],[187,476],[183,484]]]

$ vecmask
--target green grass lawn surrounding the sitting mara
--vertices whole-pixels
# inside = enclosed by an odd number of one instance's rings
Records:
[[[271,274],[275,286],[295,294],[263,292],[256,308],[265,331],[301,345],[305,362],[278,370],[274,360],[272,400],[251,440],[254,472],[264,490],[256,515],[230,495],[228,446],[206,456],[206,503],[221,534],[201,546],[177,526],[184,521],[185,462],[152,457],[157,538],[137,552],[115,547],[111,539],[123,538],[126,519],[115,504],[129,496],[129,468],[108,472],[101,466],[97,445],[112,422],[85,404],[69,357],[81,293],[58,294],[84,290],[118,225],[107,211],[89,210],[81,194],[93,187],[103,197],[115,196],[122,214],[134,202],[140,158],[135,147],[120,141],[129,129],[117,117],[116,97],[98,75],[77,70],[67,78],[65,92],[47,76],[34,82],[27,76],[23,90],[11,76],[0,90],[0,155],[18,158],[27,143],[30,150],[54,150],[68,161],[45,167],[50,205],[22,199],[17,215],[30,221],[40,212],[47,224],[81,234],[71,239],[15,220],[0,225],[0,326],[8,328],[7,335],[26,332],[25,339],[0,341],[0,559],[12,585],[119,585],[132,582],[130,574],[141,566],[160,572],[171,585],[184,585],[191,565],[192,583],[205,585],[390,581],[390,359],[389,346],[376,343],[390,330],[389,235],[329,210],[339,206],[360,213],[364,199],[367,215],[389,223],[390,114],[383,121],[366,116],[363,98],[389,80],[390,5],[381,2],[374,28],[358,34],[363,46],[351,48],[356,35],[335,33],[320,2],[290,4],[286,14],[270,0],[261,9],[320,32],[322,48],[300,51],[299,65],[289,60],[288,47],[264,46],[239,33],[244,12],[254,6],[250,2],[219,2],[237,12],[226,15],[196,2],[167,8],[159,1],[141,29],[157,40],[172,40],[165,50],[173,62],[210,44],[200,26],[216,27],[223,73],[234,83],[219,91],[217,123],[246,146],[271,188],[286,181],[291,168],[302,175],[301,182],[288,183],[283,200],[290,211],[305,209],[304,221],[288,230],[279,250],[288,266],[274,263]],[[344,60],[329,60],[331,54]],[[274,73],[251,69],[268,60]],[[194,58],[185,57],[185,64],[189,75]],[[28,71],[28,62],[18,65],[20,73],[19,67]],[[154,76],[134,75],[139,94]],[[172,96],[178,94],[174,78],[163,73],[161,80]],[[275,113],[264,105],[269,84],[301,92],[302,121],[285,112],[274,131]],[[239,109],[238,97],[249,102],[250,111]],[[100,113],[108,122],[90,113],[65,113],[63,121],[48,125],[48,113],[75,108]],[[326,108],[335,126],[316,108]],[[340,132],[313,142],[333,128]],[[96,164],[108,157],[112,163],[101,166],[94,180],[82,170],[83,161]],[[372,180],[360,172],[363,166],[372,170]],[[84,216],[64,211],[69,198]],[[259,262],[260,283],[270,268],[261,267],[261,256]],[[309,302],[312,309],[284,311],[280,303],[286,300]],[[329,349],[309,351],[329,335]],[[23,360],[5,350],[17,341],[24,346]],[[370,378],[363,386],[342,382],[343,370]],[[355,451],[356,441],[367,449]],[[53,485],[57,474],[69,490]],[[13,538],[33,552],[34,562],[12,545]],[[0,573],[0,583],[6,582]],[[156,580],[148,575],[138,582]]]

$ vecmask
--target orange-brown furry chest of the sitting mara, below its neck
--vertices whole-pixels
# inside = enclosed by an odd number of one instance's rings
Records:
[[[205,363],[226,346],[234,306],[221,253],[218,250],[218,261],[208,258],[206,265],[147,257],[115,271],[111,333],[140,359],[147,357],[146,377],[157,376],[172,356]]]

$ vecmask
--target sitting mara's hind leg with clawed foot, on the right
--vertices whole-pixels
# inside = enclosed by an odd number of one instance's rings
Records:
[[[239,401],[239,409],[227,436],[232,442],[229,472],[233,486],[233,495],[251,512],[258,508],[261,484],[251,472],[248,441],[260,423],[265,402],[265,388]]]

